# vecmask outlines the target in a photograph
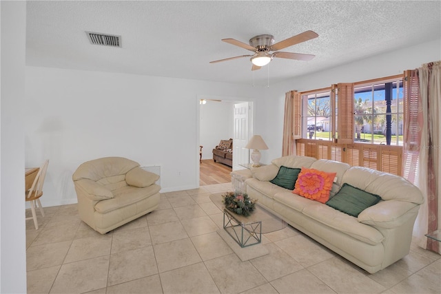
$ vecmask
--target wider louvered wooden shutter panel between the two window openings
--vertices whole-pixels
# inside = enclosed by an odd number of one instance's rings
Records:
[[[353,143],[353,84],[339,83],[337,91],[338,136],[337,143]]]

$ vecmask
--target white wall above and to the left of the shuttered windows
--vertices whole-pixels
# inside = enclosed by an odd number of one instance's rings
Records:
[[[286,92],[290,90],[301,92],[329,87],[334,83],[352,83],[393,76],[402,74],[404,70],[420,67],[423,63],[439,60],[441,60],[440,39],[271,85],[268,90],[265,90],[263,97],[259,98],[260,104],[256,115],[256,129],[262,134],[269,147],[269,150],[262,152],[261,161],[268,163],[282,154]]]

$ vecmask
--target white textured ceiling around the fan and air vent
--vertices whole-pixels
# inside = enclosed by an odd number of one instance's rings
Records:
[[[283,51],[311,61],[209,63],[250,53],[220,39],[305,30],[318,38]],[[123,46],[91,45],[85,31]],[[26,64],[266,85],[440,38],[441,1],[28,1]]]

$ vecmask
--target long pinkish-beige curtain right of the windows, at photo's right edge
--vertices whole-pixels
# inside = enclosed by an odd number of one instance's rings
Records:
[[[441,61],[424,64],[407,78],[412,85],[405,87],[407,132],[403,151],[404,165],[410,166],[403,174],[420,187],[426,200],[418,214],[414,235],[420,246],[439,253],[439,242],[425,238],[424,234],[441,228]],[[414,169],[416,160],[418,168]]]

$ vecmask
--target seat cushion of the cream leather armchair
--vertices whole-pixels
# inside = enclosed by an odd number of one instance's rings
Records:
[[[159,192],[161,187],[158,185],[150,185],[145,188],[137,188],[133,186],[126,186],[121,189],[113,191],[114,198],[102,200],[95,204],[95,210],[99,213],[107,213],[115,209],[121,209],[127,205],[134,204],[145,198]]]

